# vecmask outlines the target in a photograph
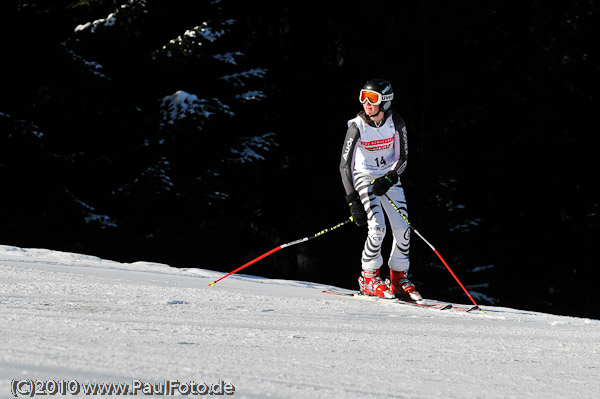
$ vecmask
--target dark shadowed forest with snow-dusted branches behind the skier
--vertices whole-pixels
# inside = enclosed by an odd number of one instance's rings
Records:
[[[469,290],[600,317],[598,2],[31,0],[0,21],[3,245],[229,272],[333,226],[381,77],[409,218]],[[356,288],[365,236],[245,272]],[[415,235],[411,262],[424,296],[468,302]]]

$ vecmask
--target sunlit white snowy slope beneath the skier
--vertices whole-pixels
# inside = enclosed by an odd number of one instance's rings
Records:
[[[77,381],[81,397],[84,383],[128,383],[143,397],[177,381],[238,398],[600,393],[598,320],[414,309],[251,276],[209,287],[223,273],[8,246],[0,275],[0,398],[26,393],[13,380]]]

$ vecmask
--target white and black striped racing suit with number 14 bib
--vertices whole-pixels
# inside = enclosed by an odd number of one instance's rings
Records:
[[[406,125],[398,114],[387,111],[379,127],[370,120],[367,122],[364,112],[348,121],[340,173],[346,195],[357,191],[367,213],[368,235],[361,259],[363,270],[374,271],[383,265],[381,245],[386,234],[387,215],[394,237],[388,265],[395,271],[408,271],[408,224],[385,196],[372,193],[371,186],[373,179],[391,170],[400,176],[406,168],[407,157]],[[387,195],[404,215],[408,215],[400,179]]]

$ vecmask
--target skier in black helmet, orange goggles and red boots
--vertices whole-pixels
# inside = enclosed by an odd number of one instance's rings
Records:
[[[382,298],[423,298],[407,278],[410,229],[383,195],[406,215],[406,199],[398,176],[406,168],[408,155],[406,125],[390,109],[394,92],[387,80],[369,80],[360,91],[363,111],[348,121],[342,147],[340,173],[346,202],[358,226],[368,225],[362,251],[360,291]],[[390,279],[381,279],[381,245],[386,233],[385,214],[393,234],[388,261]]]

